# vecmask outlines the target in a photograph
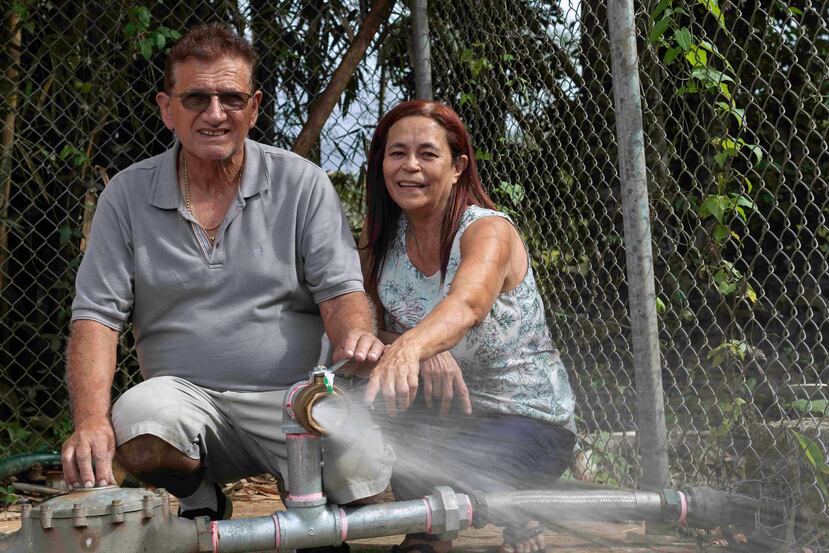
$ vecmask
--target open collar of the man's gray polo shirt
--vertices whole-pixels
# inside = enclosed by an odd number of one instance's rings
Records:
[[[176,174],[178,152],[181,143],[176,140],[173,147],[161,155],[158,170],[155,173],[150,203],[160,209],[178,209],[181,196]],[[250,198],[270,187],[268,166],[264,160],[265,153],[253,140],[245,139],[245,167],[242,170],[242,182],[239,185],[243,198]]]

